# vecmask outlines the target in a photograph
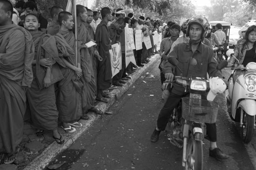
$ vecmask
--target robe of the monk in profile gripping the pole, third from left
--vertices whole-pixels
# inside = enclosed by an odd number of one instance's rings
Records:
[[[75,36],[72,31],[59,31],[54,35],[58,55],[75,65]],[[78,55],[79,52],[78,52]],[[83,84],[74,70],[60,66],[64,78],[58,83],[57,109],[61,122],[78,120],[82,115],[81,95]]]

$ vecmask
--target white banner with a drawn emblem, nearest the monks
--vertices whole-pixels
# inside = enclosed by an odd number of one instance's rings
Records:
[[[113,44],[110,52],[112,78],[122,70],[122,51],[120,44]]]

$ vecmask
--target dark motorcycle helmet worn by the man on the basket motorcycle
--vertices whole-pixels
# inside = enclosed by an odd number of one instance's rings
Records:
[[[201,39],[203,40],[205,35],[207,34],[208,31],[208,20],[206,19],[206,17],[203,17],[202,15],[194,15],[193,17],[190,18],[189,23],[188,23],[188,31],[186,33],[186,36],[189,37],[190,36],[190,26],[192,24],[198,24],[199,26],[201,26],[203,28],[203,32],[201,34]]]

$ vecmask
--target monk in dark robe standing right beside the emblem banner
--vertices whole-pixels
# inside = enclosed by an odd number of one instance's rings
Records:
[[[111,61],[110,53],[111,42],[110,35],[107,28],[107,23],[112,21],[112,11],[108,7],[102,8],[102,21],[98,24],[95,37],[97,50],[102,57],[102,61],[98,61],[98,70],[97,70],[97,98],[103,102],[108,102],[106,94],[103,90],[108,89],[112,82],[112,70],[111,70]]]

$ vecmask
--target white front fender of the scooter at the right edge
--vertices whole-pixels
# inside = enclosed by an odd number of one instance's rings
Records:
[[[242,108],[247,114],[251,116],[256,115],[256,101],[253,99],[244,99],[239,102],[238,108]]]

